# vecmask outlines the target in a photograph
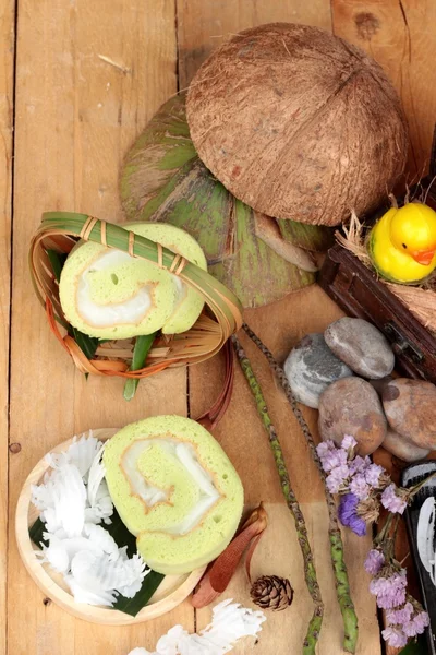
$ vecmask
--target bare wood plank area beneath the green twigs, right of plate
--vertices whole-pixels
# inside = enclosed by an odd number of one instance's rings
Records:
[[[341,315],[337,306],[317,286],[292,294],[284,300],[258,310],[245,312],[245,320],[279,361],[283,361],[289,350],[308,332],[323,332]],[[319,640],[319,655],[341,653],[342,623],[335,596],[335,580],[331,571],[328,546],[328,515],[318,472],[312,462],[310,451],[288,401],[277,386],[264,356],[241,334],[244,349],[252,362],[262,385],[269,415],[278,430],[284,452],[291,483],[303,505],[311,544],[313,546],[318,581],[326,606],[326,614]],[[197,413],[204,406],[208,389],[214,389],[217,378],[222,376],[221,366],[215,362],[190,369],[191,412]],[[203,369],[203,370],[201,370]],[[305,418],[316,433],[317,413],[304,408]],[[286,615],[268,614],[259,645],[267,655],[300,653],[311,611],[311,599],[304,586],[301,553],[296,543],[292,516],[282,499],[279,478],[274,466],[267,434],[259,421],[253,397],[237,368],[232,402],[217,426],[214,436],[234,462],[241,475],[246,502],[255,507],[259,501],[267,503],[269,527],[262,538],[262,548],[256,551],[255,562],[261,574],[287,574],[295,596],[292,607]],[[352,597],[360,619],[361,639],[358,654],[377,655],[380,653],[379,628],[375,604],[370,595],[363,562],[371,547],[370,538],[358,538],[344,531],[346,559],[349,567]],[[265,550],[263,550],[265,548]],[[365,584],[362,584],[363,577]],[[250,585],[241,571],[225,597],[234,597],[250,605]],[[209,611],[197,612],[199,626],[207,622]],[[238,646],[234,653],[251,652],[247,645]]]

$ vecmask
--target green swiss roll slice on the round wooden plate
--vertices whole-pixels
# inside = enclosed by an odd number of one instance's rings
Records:
[[[126,426],[105,446],[113,504],[147,564],[187,573],[227,547],[243,488],[219,443],[197,422],[156,416]]]

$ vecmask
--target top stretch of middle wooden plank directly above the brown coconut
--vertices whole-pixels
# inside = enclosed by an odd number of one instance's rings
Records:
[[[211,50],[237,32],[263,23],[307,23],[331,29],[328,0],[177,0],[179,84],[185,88]]]

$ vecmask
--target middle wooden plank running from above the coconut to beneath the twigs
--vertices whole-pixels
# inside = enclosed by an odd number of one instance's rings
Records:
[[[302,22],[330,29],[329,2],[217,2],[179,0],[179,71],[181,87],[192,79],[197,67],[210,50],[231,33],[252,25],[274,22]],[[221,36],[219,36],[221,35]],[[213,38],[213,37],[217,38]],[[306,333],[320,332],[340,315],[338,308],[318,287],[293,294],[281,302],[264,309],[245,312],[249,324],[259,334],[276,357],[282,361],[290,348]],[[243,337],[242,337],[243,338]],[[335,598],[335,581],[329,563],[327,540],[327,511],[323,489],[312,463],[300,428],[281,391],[278,391],[263,356],[245,338],[250,359],[264,390],[270,415],[281,438],[298,498],[303,505],[311,541],[314,547],[318,579],[326,604],[326,615],[319,641],[319,654],[341,652],[342,624]],[[198,415],[206,408],[207,398],[214,394],[222,377],[222,362],[202,365],[190,369],[191,413]],[[216,393],[216,391],[215,391]],[[306,418],[316,432],[316,413],[305,410]],[[295,599],[287,614],[268,614],[268,620],[259,638],[262,652],[284,655],[301,652],[311,600],[304,586],[301,555],[289,511],[282,501],[280,485],[264,429],[257,418],[253,398],[241,372],[237,370],[235,388],[231,405],[215,436],[235,464],[245,488],[246,502],[254,507],[261,500],[267,503],[270,526],[255,555],[254,575],[288,575],[295,588]],[[360,617],[361,639],[358,653],[380,653],[379,628],[375,604],[367,584],[362,584],[363,561],[371,540],[344,534],[347,561],[356,611]],[[368,580],[366,581],[368,582]],[[241,570],[225,597],[251,604],[249,584]],[[197,623],[209,619],[209,609],[197,612]],[[251,651],[241,644],[235,653]]]

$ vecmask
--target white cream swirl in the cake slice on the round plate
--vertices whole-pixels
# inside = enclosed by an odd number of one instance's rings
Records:
[[[140,456],[152,448],[158,445],[170,456],[179,460],[186,469],[187,475],[199,488],[199,499],[195,507],[177,525],[162,528],[175,535],[185,535],[191,532],[203,520],[209,509],[220,498],[218,489],[214,485],[210,474],[203,468],[198,462],[195,449],[190,443],[180,443],[173,439],[144,439],[135,441],[128,448],[122,456],[122,467],[131,485],[133,493],[140,496],[147,507],[153,508],[158,502],[169,500],[167,490],[154,487],[148,483],[137,468]]]

